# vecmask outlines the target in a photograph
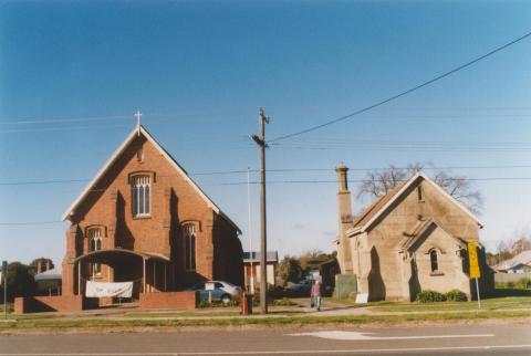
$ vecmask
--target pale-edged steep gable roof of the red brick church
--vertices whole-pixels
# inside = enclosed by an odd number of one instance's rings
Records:
[[[199,188],[199,186],[188,176],[188,172],[175,160],[171,155],[160,146],[160,144],[153,138],[153,136],[147,132],[147,129],[139,125],[133,129],[133,132],[127,136],[127,138],[122,143],[122,145],[116,149],[116,151],[107,159],[105,165],[97,171],[97,174],[92,178],[91,182],[85,187],[85,189],[81,192],[81,195],[77,197],[77,199],[74,200],[74,202],[66,209],[64,212],[62,220],[67,220],[69,216],[75,211],[75,209],[81,205],[81,202],[88,196],[91,189],[94,187],[94,185],[105,175],[105,172],[112,167],[112,165],[118,159],[118,157],[122,155],[122,153],[125,151],[127,146],[135,140],[136,137],[139,135],[144,136],[169,163],[170,165],[179,172],[185,180],[196,190],[196,192],[207,202],[207,205],[216,211],[216,213],[220,214],[223,217],[227,222],[229,222],[232,227],[235,227],[239,233],[241,233],[241,230],[238,228],[238,226],[230,220],[222,211],[219,209],[219,207]]]

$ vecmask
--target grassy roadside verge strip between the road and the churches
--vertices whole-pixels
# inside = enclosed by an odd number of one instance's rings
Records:
[[[9,315],[0,318],[0,333],[72,332],[72,331],[138,331],[160,327],[199,326],[303,326],[303,325],[375,325],[418,323],[492,323],[531,322],[531,299],[503,300],[486,303],[481,310],[476,302],[445,304],[353,304],[326,299],[320,312],[310,306],[310,299],[293,299],[292,305],[273,305],[268,314],[240,315],[239,307],[212,307],[194,311],[140,310],[135,305],[83,311],[77,313],[38,313]]]

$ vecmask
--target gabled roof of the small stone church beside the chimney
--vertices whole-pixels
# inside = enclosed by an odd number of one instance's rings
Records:
[[[481,220],[476,217],[470,210],[468,210],[462,203],[456,200],[456,198],[451,197],[445,189],[442,189],[439,185],[433,181],[424,172],[419,171],[415,174],[412,178],[403,182],[402,185],[396,186],[392,190],[389,190],[386,195],[378,197],[371,206],[368,206],[362,213],[354,220],[353,228],[347,231],[347,234],[353,234],[356,232],[363,232],[367,228],[369,228],[387,209],[397,200],[399,199],[409,187],[413,185],[420,182],[421,180],[426,180],[428,184],[434,186],[436,190],[438,190],[442,196],[445,196],[448,200],[454,202],[460,210],[462,210],[466,214],[472,218],[479,227],[483,227]]]

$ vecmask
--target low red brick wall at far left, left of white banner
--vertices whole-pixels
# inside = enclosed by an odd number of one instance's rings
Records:
[[[24,296],[14,299],[14,313],[79,312],[88,307],[81,295]]]

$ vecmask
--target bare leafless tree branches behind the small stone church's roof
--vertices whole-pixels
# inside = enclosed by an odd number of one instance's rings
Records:
[[[430,164],[416,163],[400,168],[391,165],[385,169],[368,171],[363,184],[357,190],[356,198],[366,196],[381,197],[396,188],[415,172],[429,168]],[[445,189],[451,197],[466,206],[470,211],[479,213],[483,207],[481,191],[476,189],[473,182],[465,176],[452,176],[442,170],[435,170],[430,178]]]

